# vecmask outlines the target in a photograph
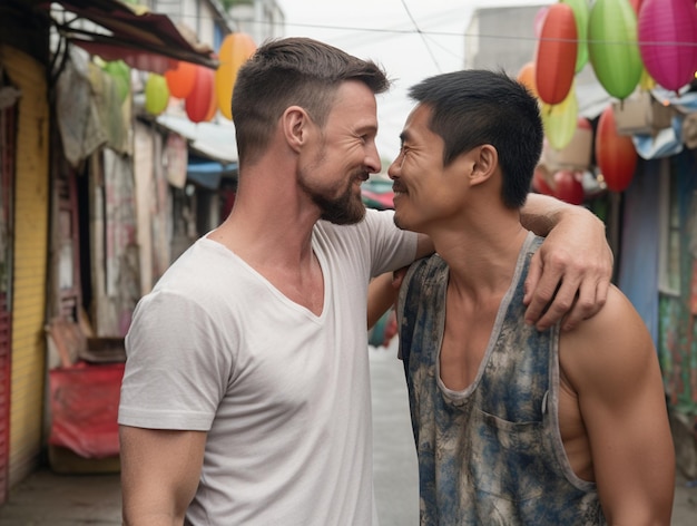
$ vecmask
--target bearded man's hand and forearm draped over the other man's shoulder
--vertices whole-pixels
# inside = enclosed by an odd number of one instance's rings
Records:
[[[568,330],[596,314],[606,302],[613,262],[602,222],[582,206],[539,194],[528,196],[520,221],[547,236],[526,280],[526,321],[544,330],[565,318]]]

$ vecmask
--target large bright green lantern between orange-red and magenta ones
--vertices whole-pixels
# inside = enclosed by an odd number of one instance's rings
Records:
[[[596,0],[588,20],[588,58],[602,88],[624,99],[641,77],[637,16],[629,0]]]

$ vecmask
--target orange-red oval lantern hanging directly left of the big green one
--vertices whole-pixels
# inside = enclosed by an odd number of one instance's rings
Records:
[[[549,7],[534,58],[534,85],[546,104],[559,104],[569,95],[576,74],[577,45],[573,10],[566,3]]]

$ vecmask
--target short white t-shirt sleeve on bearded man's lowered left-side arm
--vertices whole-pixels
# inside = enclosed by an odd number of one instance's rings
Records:
[[[168,292],[141,299],[126,337],[119,423],[209,430],[232,369],[213,334],[210,316],[190,299]]]

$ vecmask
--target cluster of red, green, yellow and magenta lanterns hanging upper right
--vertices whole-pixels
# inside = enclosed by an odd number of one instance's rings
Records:
[[[589,62],[601,85],[622,104],[638,90],[657,85],[676,94],[695,80],[697,6],[695,0],[560,0],[536,18],[534,60],[518,80],[538,98],[546,147],[552,156],[581,134],[592,135],[578,117],[575,76]],[[617,130],[613,107],[601,113],[592,148],[607,188],[625,191],[634,177],[638,154],[629,135]],[[579,172],[549,172],[533,177],[538,192],[575,204],[583,202]]]

